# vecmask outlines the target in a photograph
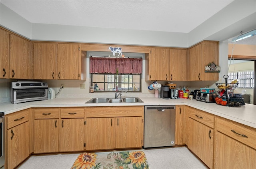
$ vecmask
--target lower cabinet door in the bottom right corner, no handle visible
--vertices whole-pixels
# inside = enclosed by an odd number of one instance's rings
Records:
[[[216,133],[216,169],[255,169],[256,150]]]

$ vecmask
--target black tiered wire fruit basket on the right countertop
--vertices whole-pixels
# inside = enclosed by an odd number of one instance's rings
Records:
[[[223,96],[218,96],[224,100],[227,101],[227,105],[229,107],[240,107],[240,105],[245,105],[244,103],[244,98],[243,97],[234,97],[234,96],[229,96],[228,94],[228,90],[233,90],[236,89],[238,83],[237,81],[232,81],[232,83],[228,83],[228,75],[224,75],[223,78],[225,79],[225,83],[224,84],[216,84],[216,86],[218,87],[218,89],[220,90],[225,90],[224,95]]]

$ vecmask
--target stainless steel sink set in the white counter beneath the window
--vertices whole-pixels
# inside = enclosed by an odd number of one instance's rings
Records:
[[[140,98],[138,97],[125,97],[122,99],[115,99],[115,98],[92,98],[85,103],[143,103]]]

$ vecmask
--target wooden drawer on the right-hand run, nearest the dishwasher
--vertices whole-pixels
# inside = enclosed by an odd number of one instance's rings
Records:
[[[205,111],[188,107],[188,117],[214,128],[214,115]]]

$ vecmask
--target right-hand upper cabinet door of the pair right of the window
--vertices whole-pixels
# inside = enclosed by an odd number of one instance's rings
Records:
[[[169,80],[186,81],[186,50],[170,49]]]

